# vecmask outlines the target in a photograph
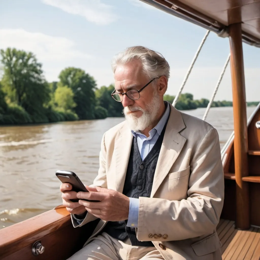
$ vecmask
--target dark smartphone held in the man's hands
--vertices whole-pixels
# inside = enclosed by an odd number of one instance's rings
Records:
[[[56,176],[60,179],[62,183],[69,183],[72,185],[72,191],[83,191],[83,192],[88,192],[86,189],[85,185],[82,183],[79,177],[77,177],[76,173],[70,172],[70,171],[63,171],[63,170],[58,170],[56,171]],[[98,200],[87,200],[87,199],[82,199],[90,202],[99,202]],[[71,199],[72,202],[78,202],[79,199]]]

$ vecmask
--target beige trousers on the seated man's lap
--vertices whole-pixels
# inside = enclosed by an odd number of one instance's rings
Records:
[[[132,246],[130,240],[117,240],[107,233],[94,237],[67,260],[157,260],[164,259],[154,247]]]

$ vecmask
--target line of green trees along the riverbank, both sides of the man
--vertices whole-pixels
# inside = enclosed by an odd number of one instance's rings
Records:
[[[47,82],[42,64],[31,52],[2,49],[0,59],[0,125],[123,116],[121,103],[111,97],[114,85],[97,88],[95,79],[80,68],[65,68],[59,81]],[[174,96],[165,95],[164,99],[172,103]],[[193,100],[192,94],[185,93],[176,108],[196,109],[208,103],[207,99]],[[216,101],[212,106],[232,106],[232,102]]]

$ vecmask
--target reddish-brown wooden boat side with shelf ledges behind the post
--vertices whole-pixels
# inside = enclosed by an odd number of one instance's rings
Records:
[[[256,128],[256,122],[260,120],[260,104],[248,121],[248,176],[242,176],[243,183],[249,185],[249,219],[251,225],[260,226],[260,129]],[[222,218],[235,220],[236,212],[236,174],[234,158],[234,142],[232,141],[225,152],[223,162],[225,178],[225,199]],[[244,209],[245,210],[245,209]]]

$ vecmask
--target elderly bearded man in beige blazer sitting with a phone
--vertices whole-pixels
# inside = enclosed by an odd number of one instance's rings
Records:
[[[103,135],[89,192],[61,185],[74,227],[100,219],[69,259],[222,259],[216,227],[224,174],[216,129],[164,101],[170,67],[159,53],[127,48],[112,68],[112,97],[126,121]]]

